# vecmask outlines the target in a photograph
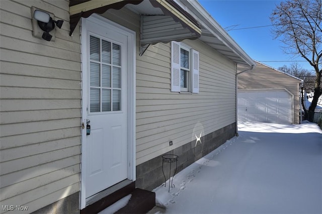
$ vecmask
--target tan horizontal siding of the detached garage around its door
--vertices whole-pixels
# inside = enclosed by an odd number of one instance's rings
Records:
[[[287,89],[294,96],[293,124],[299,124],[300,80],[264,64],[257,63],[253,70],[238,74],[238,90]]]

